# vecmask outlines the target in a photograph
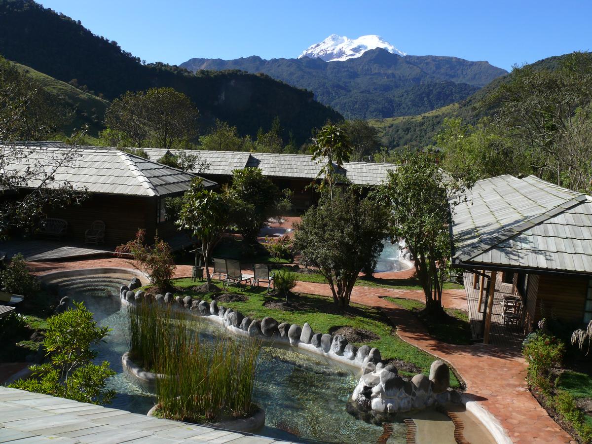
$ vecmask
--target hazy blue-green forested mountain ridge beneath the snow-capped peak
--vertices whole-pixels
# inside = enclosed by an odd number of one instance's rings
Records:
[[[344,62],[321,59],[191,59],[181,64],[199,70],[241,69],[263,72],[314,92],[316,98],[348,118],[385,118],[420,114],[471,95],[506,71],[487,62],[456,57],[406,56],[383,49]]]

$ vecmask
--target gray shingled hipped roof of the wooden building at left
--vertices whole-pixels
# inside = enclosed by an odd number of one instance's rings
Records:
[[[5,165],[5,169],[24,171],[28,165],[34,164],[47,165],[47,171],[50,171],[50,165],[56,165],[55,159],[59,159],[66,150],[66,147],[55,143],[27,146],[27,156]],[[193,173],[117,149],[78,147],[74,160],[57,168],[53,184],[70,182],[75,188],[86,188],[94,193],[151,197],[183,192],[194,177]],[[38,186],[35,182],[28,185]],[[215,182],[205,181],[205,186],[214,185]]]

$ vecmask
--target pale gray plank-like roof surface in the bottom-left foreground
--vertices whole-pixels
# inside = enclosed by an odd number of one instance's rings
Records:
[[[157,419],[115,408],[0,387],[0,443],[289,444],[272,438]]]

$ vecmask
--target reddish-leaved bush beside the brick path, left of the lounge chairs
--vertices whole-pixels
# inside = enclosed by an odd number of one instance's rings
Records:
[[[130,240],[115,249],[119,255],[131,254],[138,262],[141,269],[150,276],[150,282],[162,292],[168,291],[171,287],[170,279],[175,272],[175,260],[170,245],[159,239],[155,234],[154,243],[147,245],[145,242],[146,231],[138,230],[136,239]],[[138,267],[140,269],[140,267]]]

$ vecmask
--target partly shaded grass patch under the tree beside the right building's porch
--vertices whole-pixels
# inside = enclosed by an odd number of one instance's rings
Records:
[[[446,308],[448,319],[434,322],[423,315],[422,310],[426,305],[421,301],[391,297],[384,299],[414,313],[423,321],[430,336],[435,339],[449,344],[469,345],[472,343],[471,324],[469,323],[468,314],[464,311]]]

